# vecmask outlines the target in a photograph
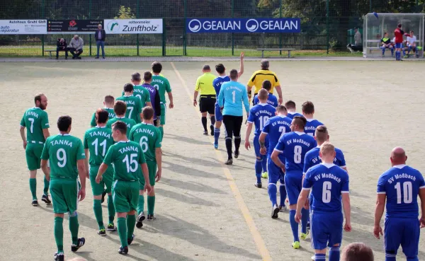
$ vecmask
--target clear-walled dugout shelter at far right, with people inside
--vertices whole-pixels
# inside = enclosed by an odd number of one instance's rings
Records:
[[[392,41],[397,24],[402,24],[404,33],[414,31],[419,57],[424,57],[424,13],[368,13],[363,20],[363,57],[381,57],[381,39],[385,33]],[[403,37],[406,41],[406,36]],[[403,47],[406,47],[403,43]],[[412,52],[413,53],[413,52]],[[390,50],[385,56],[391,57]]]

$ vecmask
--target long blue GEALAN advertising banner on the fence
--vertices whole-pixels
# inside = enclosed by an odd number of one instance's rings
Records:
[[[300,18],[187,18],[186,33],[300,33]]]

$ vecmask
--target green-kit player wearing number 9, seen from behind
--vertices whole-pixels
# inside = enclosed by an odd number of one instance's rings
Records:
[[[83,143],[81,139],[69,135],[72,119],[61,116],[57,120],[60,134],[48,137],[41,155],[41,169],[50,180],[53,212],[55,213],[55,240],[57,253],[55,260],[64,260],[64,213],[69,214],[69,231],[72,237],[72,252],[81,248],[86,240],[78,238],[77,203],[86,197],[86,170],[84,169]],[[50,161],[50,169],[47,168]],[[81,187],[77,178],[81,182]],[[78,200],[79,199],[79,200]]]

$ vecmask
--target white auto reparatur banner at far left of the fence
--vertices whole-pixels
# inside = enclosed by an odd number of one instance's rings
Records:
[[[0,20],[0,35],[45,35],[47,20]]]

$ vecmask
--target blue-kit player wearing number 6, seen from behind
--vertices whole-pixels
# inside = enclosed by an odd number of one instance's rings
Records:
[[[335,147],[329,142],[320,146],[320,158],[323,162],[307,170],[297,202],[295,221],[300,222],[304,215],[302,209],[305,209],[305,202],[311,190],[314,197],[311,206],[311,242],[315,253],[314,260],[325,260],[326,250],[329,247],[329,261],[339,261],[344,222],[341,196],[346,218],[344,230],[351,231],[348,173],[333,163],[335,154]]]

